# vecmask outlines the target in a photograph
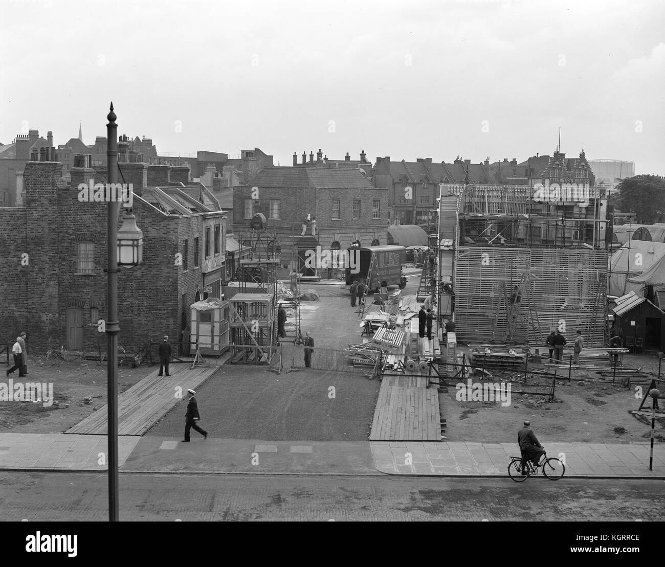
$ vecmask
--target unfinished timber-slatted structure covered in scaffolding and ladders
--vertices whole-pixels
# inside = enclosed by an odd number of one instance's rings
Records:
[[[582,207],[536,202],[521,185],[441,189],[439,235],[448,246],[438,281],[453,283],[459,340],[542,344],[558,328],[569,342],[579,329],[586,346],[604,344],[607,221],[598,189]]]

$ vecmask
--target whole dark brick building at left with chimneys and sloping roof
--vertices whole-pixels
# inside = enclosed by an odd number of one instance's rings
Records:
[[[203,289],[219,294],[226,216],[188,194],[188,168],[119,166],[133,184],[144,233],[143,263],[118,273],[120,345],[134,352],[164,334],[178,342]],[[105,183],[106,171],[72,168],[69,184],[61,172],[59,162],[27,162],[24,206],[0,208],[0,340],[26,330],[33,352],[59,345],[96,351],[98,341],[104,350],[94,323],[106,318],[107,205],[80,202],[78,184]]]

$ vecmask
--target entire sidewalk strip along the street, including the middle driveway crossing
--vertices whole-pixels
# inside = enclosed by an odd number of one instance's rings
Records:
[[[665,479],[665,447],[648,443],[589,444],[543,441],[565,459],[567,477]],[[122,472],[260,473],[273,475],[506,476],[513,443],[410,441],[255,441],[118,437]],[[105,471],[106,435],[0,433],[0,470]],[[410,455],[407,455],[410,453]],[[563,455],[561,455],[563,453]],[[561,455],[561,456],[560,456]],[[410,459],[410,464],[407,462]]]

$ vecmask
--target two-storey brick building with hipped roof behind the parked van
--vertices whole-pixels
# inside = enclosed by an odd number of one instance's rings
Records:
[[[268,232],[276,234],[282,267],[291,267],[294,246],[344,250],[353,241],[387,244],[387,210],[388,191],[374,187],[360,170],[265,168],[248,185],[234,187],[233,232],[244,240],[251,217],[263,213]],[[307,213],[317,221],[314,240],[310,228],[301,237]]]

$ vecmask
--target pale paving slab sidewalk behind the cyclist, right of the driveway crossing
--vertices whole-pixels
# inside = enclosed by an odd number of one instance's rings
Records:
[[[565,462],[567,477],[665,478],[665,447],[654,447],[650,471],[648,443],[541,443],[549,457]],[[370,445],[376,469],[388,475],[507,476],[509,457],[520,454],[517,443],[370,441]]]

